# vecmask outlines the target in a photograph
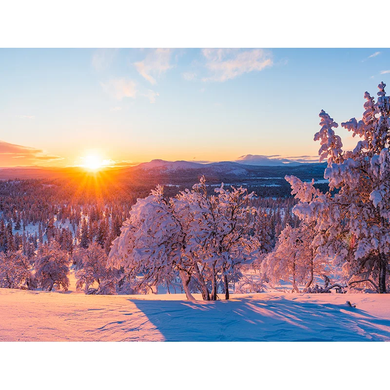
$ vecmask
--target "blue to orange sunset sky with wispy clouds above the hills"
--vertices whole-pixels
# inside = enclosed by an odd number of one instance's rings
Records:
[[[390,49],[0,49],[0,167],[315,160],[382,80]]]

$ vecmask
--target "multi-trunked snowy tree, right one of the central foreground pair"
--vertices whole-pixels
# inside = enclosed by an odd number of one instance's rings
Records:
[[[187,245],[187,255],[194,255],[196,262],[202,264],[203,272],[209,273],[212,300],[216,299],[218,273],[225,298],[229,299],[229,274],[238,265],[253,261],[259,249],[253,234],[254,221],[249,218],[256,213],[249,206],[254,193],[248,194],[242,187],[232,187],[229,191],[223,183],[215,193],[207,194],[202,177],[192,191],[181,192],[175,201],[181,220],[189,221],[187,238],[191,245]]]

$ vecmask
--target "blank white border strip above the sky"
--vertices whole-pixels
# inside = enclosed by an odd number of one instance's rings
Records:
[[[386,2],[14,0],[0,47],[386,47]]]

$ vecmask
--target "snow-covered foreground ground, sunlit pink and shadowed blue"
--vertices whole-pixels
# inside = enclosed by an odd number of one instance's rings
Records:
[[[390,341],[390,295],[272,292],[189,302],[184,294],[0,289],[0,341],[18,340]]]

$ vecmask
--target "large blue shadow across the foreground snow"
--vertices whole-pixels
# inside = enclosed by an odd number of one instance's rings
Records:
[[[390,341],[390,320],[345,304],[284,297],[131,302],[167,341]]]

